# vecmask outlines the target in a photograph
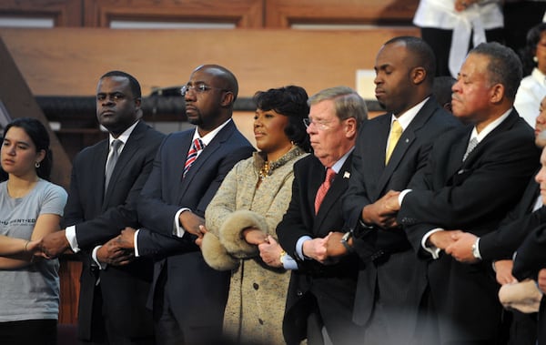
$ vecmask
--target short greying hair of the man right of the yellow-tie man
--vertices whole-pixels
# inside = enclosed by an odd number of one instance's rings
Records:
[[[516,53],[508,46],[497,42],[481,43],[472,48],[469,54],[479,54],[490,59],[487,65],[490,84],[504,86],[504,94],[512,101],[520,86],[522,70],[521,61]]]

